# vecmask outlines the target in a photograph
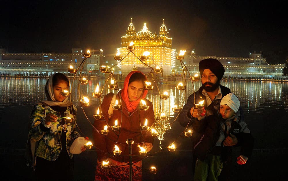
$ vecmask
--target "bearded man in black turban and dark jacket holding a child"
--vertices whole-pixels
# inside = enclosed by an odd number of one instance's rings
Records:
[[[221,120],[223,121],[218,111],[220,102],[231,91],[220,84],[225,69],[217,59],[209,58],[200,61],[199,72],[202,86],[195,95],[193,93],[188,97],[178,118],[181,126],[192,126],[193,129],[191,139],[195,164],[194,180],[229,180],[232,146],[241,146],[242,140],[251,133],[240,133],[237,137],[227,135],[223,145],[216,145],[220,135],[219,125]],[[200,101],[204,101],[204,107],[194,108],[194,103],[198,104]],[[239,123],[244,122],[241,107],[239,111]],[[207,114],[215,116],[213,119],[208,119]]]

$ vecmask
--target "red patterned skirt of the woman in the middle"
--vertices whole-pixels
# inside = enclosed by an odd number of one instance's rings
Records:
[[[119,162],[113,159],[109,159],[109,167],[103,169],[101,167],[102,162],[97,161],[95,171],[95,181],[118,181],[129,180],[130,167],[128,163]],[[142,180],[142,161],[133,163],[132,165],[132,180]]]

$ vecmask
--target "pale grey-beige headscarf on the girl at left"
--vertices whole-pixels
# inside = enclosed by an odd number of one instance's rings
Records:
[[[56,73],[56,74],[60,74],[60,73]],[[68,97],[66,97],[62,102],[58,102],[55,100],[54,98],[54,93],[53,93],[53,76],[55,74],[53,74],[46,82],[46,85],[45,85],[45,94],[46,94],[46,97],[47,97],[47,100],[43,100],[43,101],[40,101],[42,103],[45,103],[47,105],[50,105],[50,106],[60,106],[60,107],[67,107],[67,106],[70,106],[71,104],[73,104],[72,102],[70,103],[70,101],[68,100]],[[68,78],[67,78],[67,81],[69,82]]]

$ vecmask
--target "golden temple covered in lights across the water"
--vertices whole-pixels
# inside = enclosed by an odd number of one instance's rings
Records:
[[[127,55],[129,52],[126,47],[133,41],[135,50],[133,53],[139,57],[144,51],[149,51],[150,56],[145,63],[153,68],[162,67],[163,76],[169,75],[171,67],[175,65],[175,49],[172,49],[172,38],[168,37],[166,25],[160,26],[159,35],[152,33],[148,29],[148,25],[144,23],[139,32],[136,33],[132,18],[126,30],[126,35],[122,36],[120,48],[117,48],[120,55]],[[130,53],[121,62],[121,71],[123,75],[127,75],[134,67],[139,71],[148,73],[151,69],[143,65],[132,53]],[[161,75],[162,76],[162,75]]]

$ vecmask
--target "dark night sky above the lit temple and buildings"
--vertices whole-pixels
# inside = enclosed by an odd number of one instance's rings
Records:
[[[147,23],[157,34],[165,19],[177,52],[248,57],[288,49],[285,1],[0,1],[0,7],[0,46],[10,53],[103,49],[109,59],[130,18],[137,32]]]

